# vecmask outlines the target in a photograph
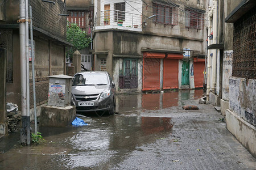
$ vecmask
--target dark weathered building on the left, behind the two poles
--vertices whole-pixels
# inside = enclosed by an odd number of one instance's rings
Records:
[[[48,76],[65,74],[65,46],[71,45],[65,41],[67,18],[59,15],[67,14],[65,1],[55,0],[54,2],[55,5],[37,0],[30,1],[34,32],[37,105],[44,104],[48,100]],[[1,82],[4,82],[1,87],[5,87],[2,88],[3,90],[6,89],[6,94],[3,91],[4,95],[1,96],[3,96],[4,105],[6,101],[15,103],[20,111],[22,101],[20,95],[20,40],[19,23],[17,23],[18,16],[20,16],[19,1],[1,0],[0,9],[0,48],[3,51],[0,74],[3,78]],[[30,59],[30,105],[32,108],[34,101],[31,61]],[[3,108],[0,112],[0,133],[3,133],[3,127],[7,122],[6,109]],[[32,120],[34,113],[30,113]],[[40,113],[40,109],[38,109],[38,113]]]

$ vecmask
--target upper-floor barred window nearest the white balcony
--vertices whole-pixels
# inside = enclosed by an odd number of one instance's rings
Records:
[[[177,25],[177,8],[174,6],[153,3],[153,14],[156,15],[155,22]]]

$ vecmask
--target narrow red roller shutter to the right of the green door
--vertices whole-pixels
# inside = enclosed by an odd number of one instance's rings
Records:
[[[204,62],[194,62],[195,88],[204,85]]]

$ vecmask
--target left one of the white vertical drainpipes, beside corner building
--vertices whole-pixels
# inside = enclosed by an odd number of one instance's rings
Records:
[[[210,7],[209,7],[210,8]],[[208,14],[208,34],[211,33],[212,30],[212,9],[209,11]],[[210,45],[210,40],[208,39],[208,45]],[[210,50],[208,49],[207,53],[207,101],[210,100]]]

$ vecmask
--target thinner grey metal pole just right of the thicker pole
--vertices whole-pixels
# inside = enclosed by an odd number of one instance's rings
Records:
[[[34,99],[34,115],[35,115],[35,134],[38,132],[38,118],[36,117],[36,92],[35,92],[35,56],[34,56],[34,40],[33,40],[33,24],[32,24],[32,7],[30,6],[30,40],[31,40],[31,58],[32,58],[32,80],[33,80],[33,99]]]

